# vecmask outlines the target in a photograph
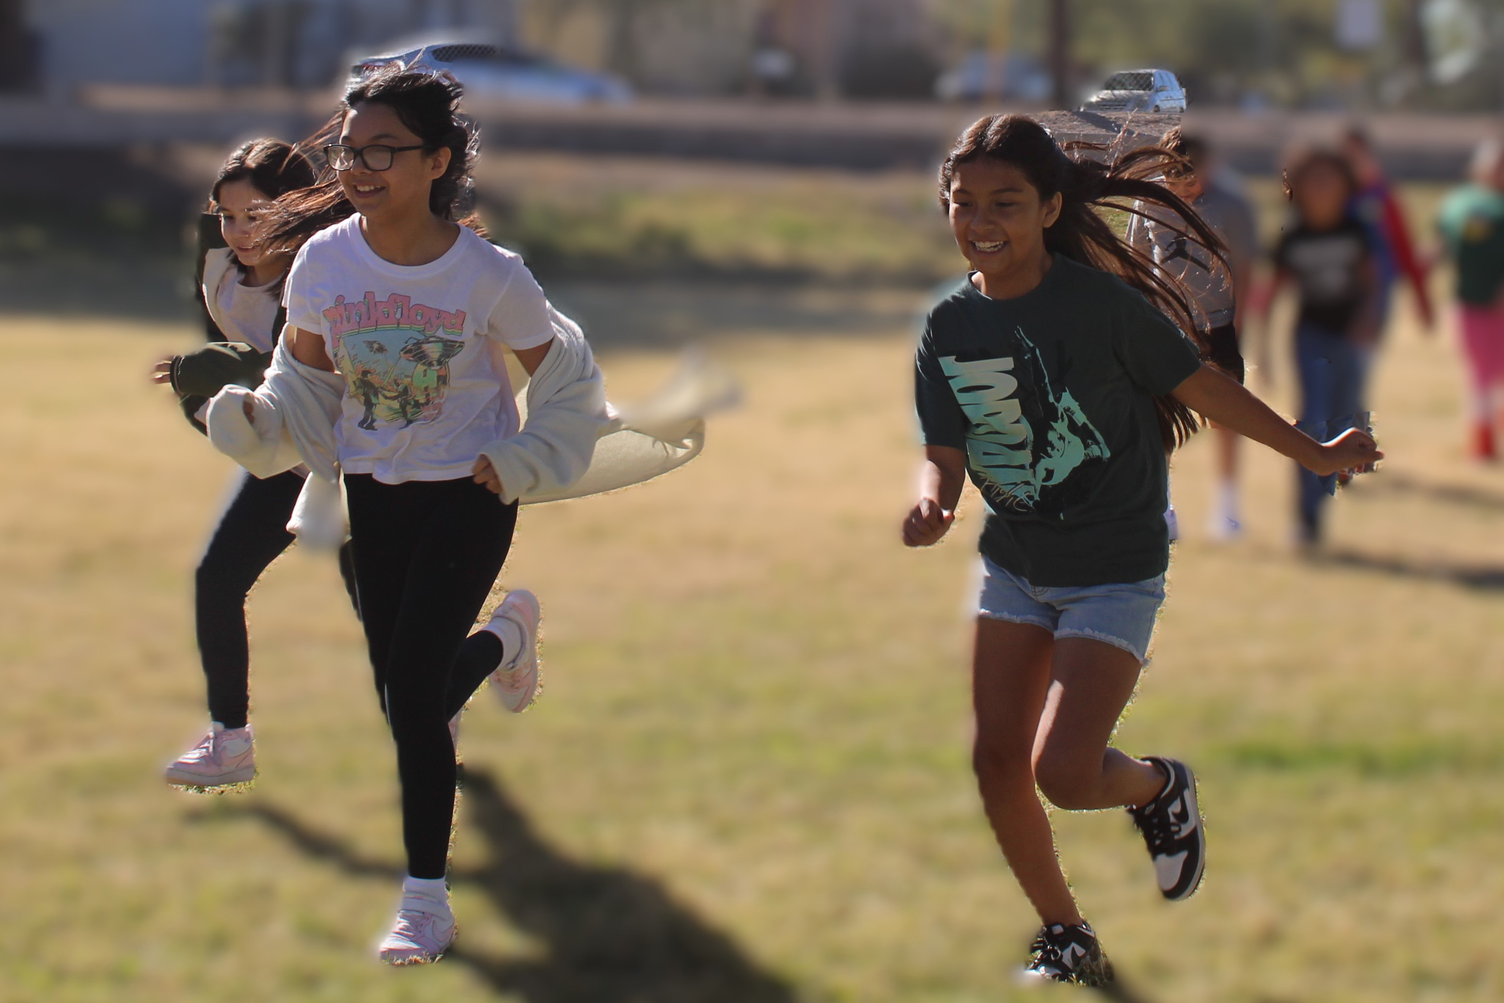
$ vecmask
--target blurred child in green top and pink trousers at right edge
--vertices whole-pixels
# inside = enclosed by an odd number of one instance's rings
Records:
[[[1472,158],[1472,183],[1441,205],[1439,230],[1457,268],[1457,322],[1472,370],[1472,454],[1498,456],[1504,421],[1504,141],[1487,140]]]

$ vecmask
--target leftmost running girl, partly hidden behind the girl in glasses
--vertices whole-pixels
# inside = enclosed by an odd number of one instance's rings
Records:
[[[177,391],[183,412],[200,430],[209,397],[227,383],[259,385],[271,362],[286,319],[278,298],[292,254],[263,250],[257,217],[274,198],[313,182],[313,165],[281,140],[251,140],[220,168],[209,192],[212,229],[200,227],[197,268],[209,344],[162,359],[152,371],[153,382]],[[235,789],[256,777],[245,597],[293,541],[287,520],[304,477],[305,469],[268,480],[236,471],[230,502],[194,573],[194,627],[209,690],[209,731],[168,764],[168,783]],[[346,586],[353,588],[347,550],[340,552],[340,570]]]

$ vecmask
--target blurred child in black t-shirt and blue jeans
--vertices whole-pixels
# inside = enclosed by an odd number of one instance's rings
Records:
[[[1304,153],[1286,170],[1284,191],[1295,203],[1295,221],[1274,250],[1274,289],[1296,286],[1301,427],[1327,438],[1363,421],[1363,389],[1382,314],[1379,266],[1367,227],[1348,211],[1357,180],[1346,159],[1327,150]],[[1295,475],[1299,541],[1311,546],[1321,541],[1327,490],[1304,468]]]

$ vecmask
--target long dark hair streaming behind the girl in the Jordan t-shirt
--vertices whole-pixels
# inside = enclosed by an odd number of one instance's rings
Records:
[[[1151,180],[1169,171],[1184,171],[1188,162],[1160,146],[1126,153],[1108,150],[1107,162],[1086,155],[1101,147],[1074,143],[1068,149],[1074,155],[1062,150],[1054,137],[1027,116],[994,114],[981,119],[961,134],[940,165],[940,206],[951,211],[951,183],[957,165],[982,158],[1012,164],[1024,173],[1041,198],[1060,194],[1060,217],[1044,232],[1048,251],[1123,280],[1164,311],[1205,355],[1206,338],[1197,329],[1191,293],[1173,277],[1158,272],[1154,260],[1130,245],[1101,215],[1101,211],[1107,211],[1149,217],[1146,206],[1160,206],[1179,217],[1185,229],[1166,226],[1226,262],[1221,241],[1196,211],[1175,192]],[[1157,218],[1157,223],[1163,221]],[[1155,397],[1154,406],[1166,450],[1181,445],[1200,427],[1196,412],[1175,397]]]

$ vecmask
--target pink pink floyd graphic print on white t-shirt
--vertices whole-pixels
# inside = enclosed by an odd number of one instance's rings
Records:
[[[361,429],[374,432],[378,423],[406,429],[439,417],[450,359],[465,349],[463,310],[424,307],[399,293],[376,299],[368,292],[353,302],[337,296],[323,317],[334,364],[365,409]]]

